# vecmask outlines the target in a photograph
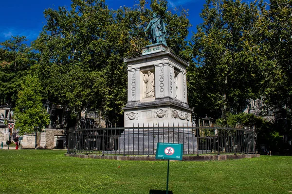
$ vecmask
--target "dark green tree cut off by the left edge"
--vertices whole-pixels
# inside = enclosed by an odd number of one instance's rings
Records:
[[[36,63],[24,36],[12,36],[0,43],[0,105],[14,107],[22,78]]]

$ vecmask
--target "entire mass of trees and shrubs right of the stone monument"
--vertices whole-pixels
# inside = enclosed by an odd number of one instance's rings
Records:
[[[254,126],[258,143],[278,145],[291,129],[292,2],[206,0],[192,37],[195,63],[188,71],[196,116],[220,126]],[[263,99],[265,121],[243,114],[249,99]]]

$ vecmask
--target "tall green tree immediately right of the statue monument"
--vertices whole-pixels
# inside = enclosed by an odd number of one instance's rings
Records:
[[[261,3],[207,0],[203,23],[194,34],[194,65],[189,70],[189,99],[197,113],[241,113],[257,97],[262,72],[255,52]],[[203,116],[203,115],[201,115]]]

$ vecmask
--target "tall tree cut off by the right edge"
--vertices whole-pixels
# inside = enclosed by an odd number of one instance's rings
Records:
[[[264,10],[261,55],[264,81],[262,87],[265,104],[269,109],[284,112],[288,126],[281,126],[280,134],[291,131],[292,120],[292,2],[270,0]],[[287,131],[286,131],[287,132]]]

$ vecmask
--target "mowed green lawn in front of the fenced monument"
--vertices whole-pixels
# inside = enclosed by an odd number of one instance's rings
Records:
[[[167,161],[65,157],[62,150],[0,150],[2,194],[149,194],[166,189]],[[173,194],[289,194],[292,157],[170,162]]]

